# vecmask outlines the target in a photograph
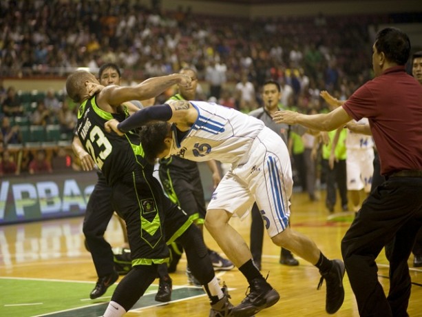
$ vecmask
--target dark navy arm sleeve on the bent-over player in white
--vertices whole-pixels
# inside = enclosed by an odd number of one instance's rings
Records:
[[[126,133],[130,130],[134,130],[136,127],[145,125],[149,121],[167,121],[171,118],[172,114],[173,111],[167,103],[164,105],[152,105],[151,107],[143,108],[131,116],[128,116],[117,125],[117,128],[121,132]]]

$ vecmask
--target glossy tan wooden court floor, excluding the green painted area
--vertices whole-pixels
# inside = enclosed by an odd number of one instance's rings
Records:
[[[324,192],[321,193],[324,198]],[[338,207],[337,207],[338,208]],[[329,258],[341,258],[340,241],[348,229],[352,216],[341,214],[337,219],[328,220],[328,213],[324,207],[324,199],[310,202],[305,194],[295,193],[292,198],[292,227],[299,232],[313,238],[319,248]],[[0,227],[0,278],[39,278],[43,280],[72,280],[94,283],[96,274],[89,253],[83,245],[83,218],[67,218],[55,221],[6,225]],[[250,219],[231,220],[232,225],[244,236],[249,243]],[[207,232],[205,241],[212,249],[220,250]],[[123,243],[122,233],[117,221],[113,220],[106,233],[107,240],[115,247]],[[268,276],[268,281],[277,289],[281,298],[269,309],[260,312],[259,316],[327,316],[325,306],[325,284],[317,291],[319,273],[313,265],[299,258],[299,266],[286,267],[279,264],[279,247],[271,243],[268,236],[264,237],[264,252],[262,260],[262,274]],[[412,276],[412,296],[408,313],[412,317],[422,316],[422,270],[412,267],[413,256],[409,265]],[[379,265],[379,280],[388,292],[388,261],[383,252],[377,259]],[[171,274],[173,285],[182,287],[187,285],[184,274],[186,260],[183,257],[177,272]],[[220,280],[230,289],[231,301],[238,304],[246,292],[246,280],[238,269],[229,272],[219,272]],[[154,284],[158,284],[158,280]],[[350,289],[347,276],[344,278],[346,298],[344,305],[333,316],[359,316],[355,297]],[[87,288],[89,298],[91,286]],[[0,288],[0,316],[6,303],[2,303],[1,294],[8,289]],[[25,289],[22,292],[38,292],[37,289]],[[57,289],[61,292],[61,289]],[[107,303],[112,292],[107,292],[103,302]],[[63,294],[65,297],[66,294]],[[48,301],[49,298],[45,298]],[[141,299],[142,302],[143,299]],[[154,302],[154,301],[153,301]],[[98,303],[98,300],[96,301]],[[89,302],[87,303],[89,305]],[[53,311],[52,311],[53,312]],[[148,307],[131,310],[126,316],[208,316],[209,303],[206,296],[192,296],[184,300],[175,300],[166,305],[148,305]],[[18,312],[14,316],[24,316]],[[25,315],[26,316],[26,315]],[[43,315],[49,316],[49,315]],[[52,315],[51,315],[52,316]],[[54,314],[54,316],[63,316]],[[72,313],[67,316],[73,316]],[[74,316],[83,316],[74,314]],[[89,315],[92,316],[92,315]],[[101,313],[98,314],[101,316]]]

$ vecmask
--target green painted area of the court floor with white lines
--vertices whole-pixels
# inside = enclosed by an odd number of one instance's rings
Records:
[[[102,316],[116,285],[109,287],[105,296],[91,300],[88,294],[93,284],[85,281],[0,276],[0,316]],[[150,285],[131,310],[168,305],[154,300],[157,289],[158,285]],[[201,287],[174,285],[171,301],[189,300],[198,296],[205,296]]]

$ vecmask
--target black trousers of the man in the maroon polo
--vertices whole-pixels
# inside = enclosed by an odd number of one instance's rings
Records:
[[[408,316],[408,258],[421,225],[422,178],[390,178],[363,202],[341,241],[341,254],[360,316]],[[378,281],[375,259],[393,237],[390,292],[386,297]]]

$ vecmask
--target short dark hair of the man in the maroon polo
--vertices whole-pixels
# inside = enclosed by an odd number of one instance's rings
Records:
[[[375,38],[377,52],[383,52],[386,59],[397,65],[405,65],[410,56],[410,40],[407,34],[398,28],[384,28]]]

